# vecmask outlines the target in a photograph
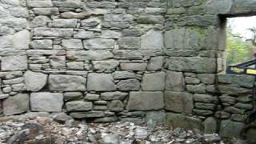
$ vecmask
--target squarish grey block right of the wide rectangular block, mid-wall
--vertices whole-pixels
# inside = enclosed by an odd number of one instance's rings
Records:
[[[114,78],[111,74],[88,74],[87,90],[89,91],[113,91],[117,90]]]

